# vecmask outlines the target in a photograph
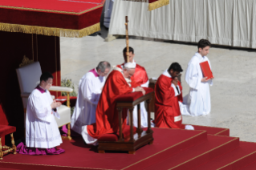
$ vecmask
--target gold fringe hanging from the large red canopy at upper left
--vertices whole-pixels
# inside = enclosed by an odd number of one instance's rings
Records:
[[[82,38],[89,34],[93,34],[100,30],[100,22],[95,25],[88,26],[82,30],[71,30],[53,27],[43,27],[43,26],[26,26],[10,23],[1,23],[0,30],[7,32],[21,32],[26,34],[43,34],[47,36],[57,36],[57,37],[75,37]]]

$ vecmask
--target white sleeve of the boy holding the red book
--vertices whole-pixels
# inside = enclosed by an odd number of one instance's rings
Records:
[[[190,63],[189,67],[187,68],[185,73],[185,81],[189,84],[189,87],[196,90],[201,83],[201,79],[198,77],[197,67],[193,63]]]

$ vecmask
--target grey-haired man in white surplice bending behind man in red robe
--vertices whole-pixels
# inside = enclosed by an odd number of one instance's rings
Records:
[[[80,79],[79,93],[71,118],[73,131],[81,134],[82,126],[95,123],[96,107],[110,69],[110,63],[103,61]]]

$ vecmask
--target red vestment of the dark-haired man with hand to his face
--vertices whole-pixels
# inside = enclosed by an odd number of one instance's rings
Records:
[[[182,102],[182,92],[175,96],[175,91],[172,85],[173,78],[161,75],[155,86],[155,126],[168,128],[182,128],[182,117],[179,106],[179,101]],[[178,86],[182,91],[181,83]]]

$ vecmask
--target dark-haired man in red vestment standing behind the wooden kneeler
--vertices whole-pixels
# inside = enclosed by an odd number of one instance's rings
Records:
[[[124,62],[127,63],[127,48],[123,50]],[[135,73],[132,75],[132,78],[140,87],[148,87],[148,75],[144,67],[141,67],[134,60],[134,50],[132,47],[129,47],[129,63],[132,63],[136,66]],[[124,63],[122,64],[124,66]],[[148,127],[148,111],[146,111],[144,102],[140,103],[140,124],[141,127]],[[138,127],[138,115],[137,115],[137,106],[133,109],[133,126]]]

